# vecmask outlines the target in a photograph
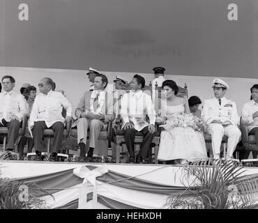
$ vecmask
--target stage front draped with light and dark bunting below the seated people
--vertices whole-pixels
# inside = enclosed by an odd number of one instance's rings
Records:
[[[1,178],[36,183],[49,191],[54,196],[54,199],[44,197],[49,208],[78,208],[79,194],[85,183],[85,176],[79,178],[75,174],[78,167],[87,167],[88,175],[97,168],[105,170],[96,178],[98,202],[89,201],[84,208],[164,208],[169,194],[183,191],[192,183],[190,178],[182,181],[185,173],[178,165],[11,160],[3,160],[0,165]],[[258,174],[257,167],[243,169],[243,176]]]

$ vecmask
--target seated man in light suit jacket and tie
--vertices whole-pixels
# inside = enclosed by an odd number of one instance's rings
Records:
[[[93,150],[98,142],[100,130],[107,129],[107,123],[114,120],[113,98],[105,91],[108,80],[103,74],[96,75],[94,90],[86,91],[79,101],[75,116],[77,121],[77,143],[80,148],[79,162],[93,162]],[[86,139],[89,128],[89,151],[86,154]]]

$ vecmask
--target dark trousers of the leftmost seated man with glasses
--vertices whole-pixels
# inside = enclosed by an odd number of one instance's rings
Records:
[[[2,119],[2,123],[3,123],[3,125],[0,123],[0,127],[8,128],[7,150],[13,151],[13,149],[15,148],[15,141],[18,137],[21,123],[20,123],[20,121],[17,121],[16,119],[14,119],[12,121],[6,121],[5,119]]]

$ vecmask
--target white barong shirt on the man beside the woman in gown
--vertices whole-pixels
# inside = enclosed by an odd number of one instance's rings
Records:
[[[146,114],[149,116],[149,123],[146,122]],[[151,96],[142,91],[137,93],[130,91],[121,99],[121,118],[123,126],[129,121],[134,124],[137,131],[148,125],[155,125],[155,109]]]

